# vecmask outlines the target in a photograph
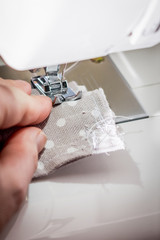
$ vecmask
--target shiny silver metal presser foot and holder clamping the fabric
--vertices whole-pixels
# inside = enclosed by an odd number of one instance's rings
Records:
[[[59,65],[46,67],[46,74],[31,78],[31,84],[41,94],[52,99],[53,105],[65,101],[75,101],[82,97],[82,91],[75,93],[68,87],[68,83],[59,72]]]

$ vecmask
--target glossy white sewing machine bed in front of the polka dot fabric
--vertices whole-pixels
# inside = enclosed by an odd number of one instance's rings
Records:
[[[121,124],[125,151],[33,182],[28,203],[1,239],[159,239],[159,126],[160,117]]]

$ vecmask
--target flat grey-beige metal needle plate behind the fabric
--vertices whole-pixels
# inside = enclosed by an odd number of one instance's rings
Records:
[[[103,88],[117,123],[148,117],[109,57],[101,63],[82,61],[68,69],[71,69],[65,74],[68,81],[85,85],[88,90]]]

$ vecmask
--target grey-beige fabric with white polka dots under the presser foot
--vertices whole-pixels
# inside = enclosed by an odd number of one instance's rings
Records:
[[[33,90],[33,94],[37,94],[37,91]],[[113,116],[102,89],[84,91],[82,99],[54,106],[49,118],[38,125],[47,135],[48,141],[39,156],[34,177],[47,175],[64,164],[95,154],[97,150],[90,141],[92,127],[94,129],[95,124],[102,119],[113,120]],[[114,128],[116,129],[115,123]],[[116,130],[114,135],[119,143],[103,141],[105,148],[103,147],[100,152],[123,148]]]

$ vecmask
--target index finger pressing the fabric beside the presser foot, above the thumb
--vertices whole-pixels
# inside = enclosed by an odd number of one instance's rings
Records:
[[[0,128],[42,122],[49,115],[52,101],[45,96],[29,96],[15,87],[0,85]]]

